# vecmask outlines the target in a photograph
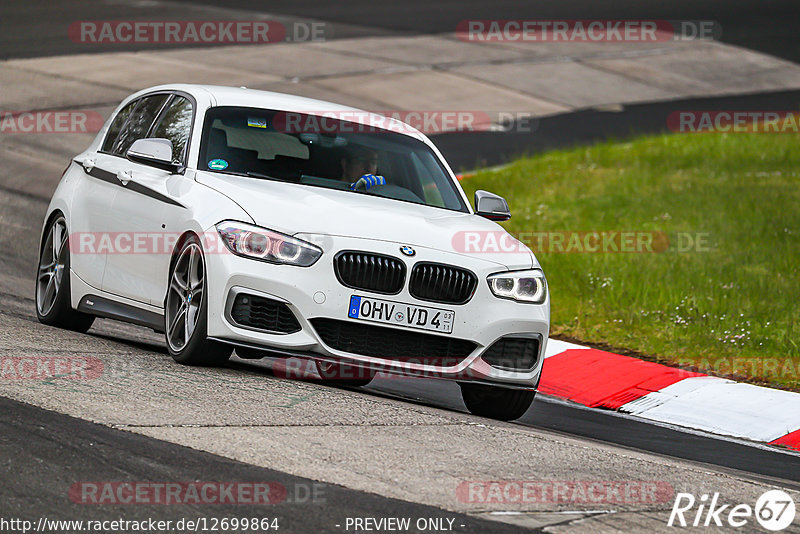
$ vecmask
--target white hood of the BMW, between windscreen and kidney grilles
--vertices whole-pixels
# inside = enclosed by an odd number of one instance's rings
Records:
[[[527,247],[508,246],[518,243],[513,238],[506,237],[506,246],[498,248],[505,230],[477,215],[242,176],[198,172],[196,180],[239,204],[255,224],[286,234],[390,241],[468,255],[509,269],[538,267]]]

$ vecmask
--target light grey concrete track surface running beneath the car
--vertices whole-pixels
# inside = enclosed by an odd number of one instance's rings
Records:
[[[0,359],[47,361],[85,358],[96,378],[0,380],[0,396],[151,438],[211,452],[289,475],[425,503],[518,526],[565,521],[622,531],[645,526],[665,530],[669,502],[490,502],[459,498],[469,481],[659,481],[674,491],[717,491],[728,500],[754,502],[788,481],[717,470],[708,465],[633,451],[541,429],[496,423],[458,411],[408,404],[366,392],[279,380],[259,367],[221,369],[175,364],[160,336],[146,329],[98,321],[89,335],[40,325],[32,313],[37,217],[43,202],[0,192],[0,213],[16,221],[0,232],[9,253],[0,260]],[[755,452],[754,452],[755,454]],[[554,512],[582,511],[578,515]],[[551,515],[537,515],[543,512]],[[591,512],[591,513],[589,513]],[[588,521],[588,522],[587,522]],[[555,527],[554,527],[555,528]],[[559,527],[560,528],[560,527]],[[599,528],[599,527],[597,527]]]

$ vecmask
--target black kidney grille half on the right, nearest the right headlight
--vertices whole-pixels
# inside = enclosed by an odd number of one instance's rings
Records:
[[[469,302],[478,285],[474,273],[440,263],[418,263],[411,272],[408,291],[420,300],[447,304]]]

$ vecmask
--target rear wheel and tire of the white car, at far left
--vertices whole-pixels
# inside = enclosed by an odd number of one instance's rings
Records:
[[[36,317],[49,326],[84,333],[94,316],[72,309],[69,286],[69,232],[60,213],[42,234],[36,272]]]

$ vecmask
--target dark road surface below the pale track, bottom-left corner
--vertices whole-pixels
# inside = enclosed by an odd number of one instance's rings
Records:
[[[32,523],[31,527],[23,526],[25,532],[30,532],[33,526],[38,532],[58,534],[99,531],[98,528],[86,528],[88,520],[108,521],[104,532],[154,532],[155,529],[172,534],[223,532],[226,529],[220,521],[222,518],[238,518],[239,528],[235,529],[238,532],[274,532],[276,529],[272,527],[277,525],[277,530],[282,533],[341,533],[348,518],[377,519],[387,516],[409,518],[409,523],[414,526],[418,520],[443,520],[445,525],[451,527],[450,531],[465,534],[525,531],[523,527],[512,524],[499,524],[490,519],[447,512],[430,505],[388,499],[370,492],[301,479],[2,397],[0,428],[3,429],[0,435],[0,458],[13,459],[13,462],[0,462],[0,476],[4,481],[13,480],[12,483],[0,485],[0,528],[4,533],[20,532],[20,528],[9,525],[14,519]],[[231,487],[237,482],[244,482],[247,486],[269,484],[269,495],[274,500],[270,499],[269,503],[249,502],[248,494],[240,500],[235,490],[223,499],[224,502],[211,503],[207,499],[215,500],[214,492],[201,499],[193,499],[187,493],[187,498],[179,496],[179,502],[168,505],[147,501],[114,502],[113,497],[109,499],[109,494],[102,492],[99,493],[104,495],[103,504],[81,502],[80,492],[71,494],[72,499],[67,498],[70,490],[87,482],[108,487],[102,481],[124,481],[129,484],[158,484],[161,481],[163,484],[167,481],[190,480],[199,482],[201,488],[207,481],[214,481],[213,486],[222,487]],[[113,483],[111,487],[114,487]],[[46,518],[41,527],[39,518]],[[205,519],[205,524],[197,529],[188,526],[181,528],[176,524],[181,520],[197,521],[198,518]],[[243,518],[264,519],[270,529],[264,528],[266,525],[260,522],[261,528],[242,528]],[[137,521],[140,526],[144,522],[144,526],[139,529],[122,526],[112,530],[114,527],[111,522],[120,519]],[[153,525],[151,528],[148,519],[171,521],[171,525]],[[219,527],[214,528],[214,520],[220,521]],[[74,523],[72,528],[58,528],[53,525],[56,521],[83,521],[86,530]],[[252,522],[247,525],[253,526]]]

